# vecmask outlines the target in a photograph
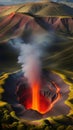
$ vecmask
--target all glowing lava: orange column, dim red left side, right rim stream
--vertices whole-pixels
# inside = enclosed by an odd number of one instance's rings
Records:
[[[22,103],[25,108],[36,110],[41,114],[49,112],[61,97],[60,87],[54,81],[51,81],[51,84],[56,88],[57,95],[53,101],[51,101],[49,97],[43,96],[40,93],[39,83],[35,83],[31,88],[27,89],[25,93],[23,92],[22,94],[21,98],[25,98],[24,102]]]

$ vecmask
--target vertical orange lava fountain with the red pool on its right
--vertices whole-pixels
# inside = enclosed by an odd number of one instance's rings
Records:
[[[44,114],[50,106],[50,101],[40,93],[39,83],[32,86],[32,109]]]

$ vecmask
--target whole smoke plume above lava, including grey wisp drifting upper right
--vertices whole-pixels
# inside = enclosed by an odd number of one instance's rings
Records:
[[[48,54],[46,50],[52,44],[52,38],[51,33],[34,35],[32,42],[20,46],[18,63],[21,64],[24,76],[31,86],[41,80],[42,58]]]

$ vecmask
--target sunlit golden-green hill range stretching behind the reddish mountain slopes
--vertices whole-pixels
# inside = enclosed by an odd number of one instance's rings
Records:
[[[55,2],[36,2],[0,7],[0,17],[12,12],[30,13],[38,16],[73,16],[73,9]]]

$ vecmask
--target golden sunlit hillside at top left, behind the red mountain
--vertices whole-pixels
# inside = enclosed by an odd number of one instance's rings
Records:
[[[27,3],[27,4],[18,4],[18,5],[11,5],[11,6],[4,6],[0,7],[0,17],[8,15],[12,12],[19,12],[19,13],[36,13],[40,11],[42,8],[46,7],[48,2],[37,2],[37,3]]]

